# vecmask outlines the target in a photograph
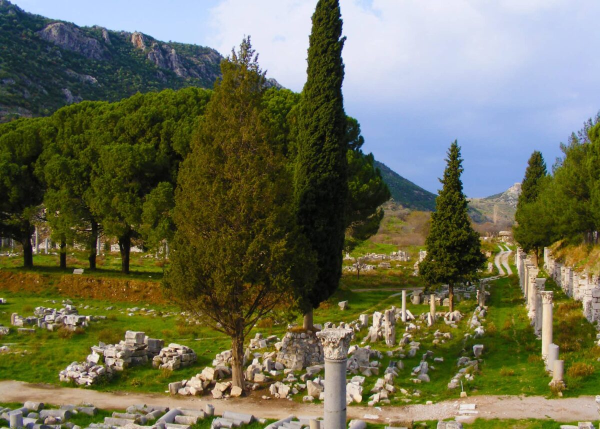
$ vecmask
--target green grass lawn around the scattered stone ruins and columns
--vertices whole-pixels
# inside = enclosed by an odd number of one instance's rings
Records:
[[[143,266],[140,266],[143,269]],[[158,267],[156,267],[158,269]],[[95,275],[95,274],[94,274]],[[349,322],[356,320],[360,314],[372,314],[373,311],[383,311],[392,305],[401,306],[401,295],[397,291],[385,291],[385,288],[412,288],[422,287],[419,278],[410,275],[409,270],[390,269],[374,270],[356,275],[346,273],[341,281],[341,286],[328,301],[322,303],[314,312],[314,322],[324,323],[332,321]],[[157,287],[160,284],[157,283]],[[595,328],[587,323],[581,315],[581,305],[556,288],[552,281],[547,282],[547,288],[556,290],[555,314],[560,314],[562,320],[554,318],[554,341],[561,345],[560,358],[565,360],[564,395],[575,396],[597,393],[596,386],[600,382],[600,348],[595,346]],[[368,292],[359,292],[358,289],[372,289]],[[68,296],[68,291],[58,293],[56,288],[49,286],[43,293],[34,294],[27,291],[10,293],[2,290],[0,296],[8,300],[7,305],[0,308],[0,323],[8,326],[10,314],[17,312],[20,315],[32,315],[35,307],[43,305],[50,307],[61,306],[61,300]],[[55,300],[56,303],[48,302]],[[337,303],[341,300],[349,301],[349,308],[341,311]],[[26,382],[44,382],[58,385],[58,373],[73,361],[83,361],[89,354],[89,347],[103,342],[116,342],[124,337],[125,330],[142,330],[152,338],[162,338],[166,344],[179,342],[192,347],[198,354],[198,361],[192,367],[183,368],[173,373],[154,370],[151,367],[128,368],[119,373],[111,382],[95,386],[102,391],[137,391],[137,392],[164,392],[169,382],[188,379],[202,371],[203,367],[211,365],[215,354],[230,347],[230,339],[215,332],[209,327],[188,324],[178,315],[178,309],[169,305],[149,305],[144,302],[109,302],[94,299],[74,299],[80,314],[106,315],[108,320],[92,323],[84,333],[75,334],[70,338],[61,338],[58,332],[37,330],[32,335],[18,334],[13,329],[10,335],[0,339],[3,344],[10,345],[13,351],[19,354],[0,354],[0,378],[16,379]],[[89,305],[89,309],[83,306]],[[153,308],[155,315],[145,315],[137,312],[128,316],[126,309],[131,306]],[[113,306],[114,309],[106,308]],[[404,359],[404,370],[395,381],[397,389],[404,388],[409,392],[418,389],[420,397],[409,397],[412,403],[422,403],[427,400],[440,401],[457,398],[460,389],[450,391],[446,385],[457,372],[456,362],[458,357],[472,356],[474,344],[484,344],[483,362],[475,374],[475,380],[463,380],[464,389],[469,395],[476,394],[526,394],[550,395],[548,382],[550,377],[545,374],[541,362],[541,341],[536,338],[529,324],[526,310],[523,305],[523,296],[518,287],[516,276],[505,277],[491,284],[491,297],[488,302],[489,312],[484,322],[486,334],[482,338],[465,338],[465,334],[472,332],[467,329],[467,321],[476,307],[475,300],[466,300],[457,303],[465,318],[459,323],[458,329],[451,329],[442,320],[437,321],[433,327],[422,325],[421,330],[415,334],[415,341],[421,342],[417,356]],[[428,306],[414,306],[409,301],[409,310],[415,315],[428,311]],[[163,317],[164,314],[170,314]],[[287,315],[283,311],[277,312],[272,317],[259,321],[259,324],[247,341],[256,332],[263,335],[284,335],[287,323],[296,321],[301,323],[299,315]],[[452,332],[453,338],[445,344],[433,344],[433,333],[439,329],[442,332]],[[403,327],[397,326],[397,339],[401,338]],[[357,334],[361,341],[367,330]],[[386,355],[387,351],[394,351],[395,347],[385,347],[383,342],[374,344],[382,350],[384,357],[381,360],[381,377],[383,370],[391,359],[395,357]],[[413,384],[410,382],[410,372],[421,361],[422,353],[431,350],[434,357],[443,357],[444,362],[433,364],[434,370],[430,372],[430,383]],[[26,352],[25,352],[26,351]],[[21,353],[24,356],[21,356]],[[430,361],[431,362],[431,361]],[[571,371],[574,364],[585,364],[589,374],[581,375],[581,368]],[[577,365],[576,365],[577,367]],[[2,369],[7,370],[2,370]],[[10,368],[10,370],[8,370]],[[587,369],[586,369],[587,368]],[[370,391],[378,376],[369,377],[365,382],[364,402],[367,392]],[[263,394],[263,393],[261,393]],[[300,401],[303,393],[296,396]],[[392,395],[392,404],[404,404],[403,396]]]

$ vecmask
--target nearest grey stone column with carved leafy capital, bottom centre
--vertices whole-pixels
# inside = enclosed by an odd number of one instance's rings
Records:
[[[325,354],[323,429],[346,429],[346,361],[352,334],[351,329],[317,332]]]

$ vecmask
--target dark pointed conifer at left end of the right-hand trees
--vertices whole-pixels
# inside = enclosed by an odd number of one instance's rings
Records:
[[[513,228],[515,240],[523,247],[524,251],[534,251],[535,261],[538,263],[539,249],[551,242],[551,216],[546,212],[544,205],[538,201],[544,189],[547,175],[546,163],[541,152],[533,151],[527,162],[525,177],[521,184],[521,195],[517,202]]]

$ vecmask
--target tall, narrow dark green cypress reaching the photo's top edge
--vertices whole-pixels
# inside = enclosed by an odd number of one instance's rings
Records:
[[[347,205],[346,114],[341,85],[344,64],[338,0],[319,0],[308,47],[307,82],[298,115],[295,169],[297,220],[317,254],[318,273],[301,306],[305,327],[312,311],[336,290],[341,277]]]

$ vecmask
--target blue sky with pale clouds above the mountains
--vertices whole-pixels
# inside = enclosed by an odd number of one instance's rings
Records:
[[[306,79],[316,0],[14,0],[77,25],[141,31],[223,55],[250,35],[268,77]],[[600,110],[598,0],[340,0],[346,114],[363,150],[431,192],[455,139],[467,196],[521,181],[533,150]]]

